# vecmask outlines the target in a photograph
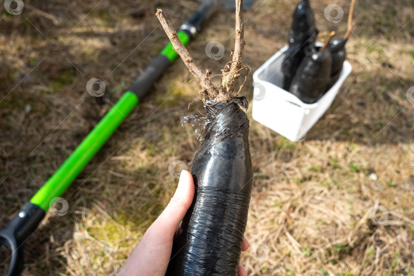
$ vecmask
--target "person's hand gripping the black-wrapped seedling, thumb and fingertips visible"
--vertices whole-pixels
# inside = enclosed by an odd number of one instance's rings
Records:
[[[181,171],[177,190],[166,209],[147,229],[141,241],[117,275],[164,276],[171,258],[174,234],[190,208],[194,197],[193,177],[188,171]],[[242,251],[249,244],[243,240]],[[247,276],[239,265],[238,276]]]

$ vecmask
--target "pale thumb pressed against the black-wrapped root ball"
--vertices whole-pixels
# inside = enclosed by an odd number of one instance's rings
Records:
[[[161,230],[166,237],[173,237],[178,225],[190,208],[194,197],[194,181],[190,172],[181,171],[177,190],[166,209],[151,225]]]

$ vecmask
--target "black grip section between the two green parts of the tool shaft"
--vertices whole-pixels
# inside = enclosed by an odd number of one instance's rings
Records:
[[[128,91],[135,93],[138,99],[144,98],[149,93],[152,84],[163,75],[170,64],[168,57],[159,54],[132,83]]]

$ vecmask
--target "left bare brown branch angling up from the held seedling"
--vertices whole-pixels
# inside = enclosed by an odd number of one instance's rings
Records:
[[[172,27],[170,20],[168,20],[165,12],[161,9],[157,9],[155,15],[158,17],[158,20],[163,26],[164,31],[166,32],[168,38],[171,40],[175,52],[177,52],[177,54],[181,57],[182,61],[186,64],[188,70],[191,74],[193,74],[194,78],[196,78],[196,80],[200,83],[201,87],[204,90],[206,90],[207,94],[205,96],[213,98],[215,95],[218,94],[217,87],[214,86],[211,83],[210,79],[202,73],[200,68],[198,68],[193,57],[190,55],[189,51],[178,38],[178,35],[175,32],[175,29]]]

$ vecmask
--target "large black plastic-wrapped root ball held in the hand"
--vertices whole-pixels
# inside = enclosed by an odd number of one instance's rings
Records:
[[[210,104],[210,103],[209,103]],[[191,173],[195,196],[166,275],[237,275],[252,186],[246,98],[204,106],[204,139]],[[202,129],[202,126],[198,126]]]

